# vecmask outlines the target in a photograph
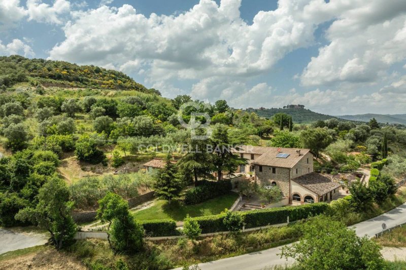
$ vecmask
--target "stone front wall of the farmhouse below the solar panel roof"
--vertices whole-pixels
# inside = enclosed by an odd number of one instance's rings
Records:
[[[262,166],[262,172],[259,171],[259,165],[255,165],[255,176],[260,184],[261,182],[269,181],[269,183],[276,182],[277,186],[281,188],[285,197],[289,197],[289,171],[288,168],[275,168],[275,173],[272,173],[272,168],[269,166]]]

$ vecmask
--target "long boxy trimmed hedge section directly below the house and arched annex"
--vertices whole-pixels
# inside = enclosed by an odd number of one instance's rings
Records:
[[[266,226],[268,224],[278,224],[287,221],[289,216],[290,221],[296,221],[308,218],[310,215],[326,213],[328,204],[314,203],[300,206],[285,206],[277,208],[269,208],[264,210],[252,210],[241,212],[244,218],[246,228]]]

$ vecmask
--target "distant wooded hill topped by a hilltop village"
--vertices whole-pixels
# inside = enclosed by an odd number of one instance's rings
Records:
[[[270,108],[270,109],[247,108],[246,111],[255,112],[260,117],[265,117],[265,118],[272,118],[275,113],[284,112],[286,114],[292,115],[293,122],[298,123],[298,124],[309,124],[309,123],[315,122],[317,120],[327,120],[327,119],[332,119],[332,118],[338,119],[337,117],[334,117],[332,115],[322,114],[322,113],[318,113],[318,112],[311,111],[309,109],[304,109],[304,108],[284,108],[284,109],[282,109],[282,108]],[[369,119],[368,119],[368,121],[369,121]]]

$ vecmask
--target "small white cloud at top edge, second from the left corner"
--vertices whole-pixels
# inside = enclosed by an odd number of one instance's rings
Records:
[[[69,13],[71,3],[66,0],[55,0],[53,5],[43,3],[41,0],[27,0],[28,20],[51,24],[62,24],[61,16]]]

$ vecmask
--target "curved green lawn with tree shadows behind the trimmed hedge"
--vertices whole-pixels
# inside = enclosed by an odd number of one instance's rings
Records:
[[[133,212],[133,214],[138,220],[172,218],[181,221],[187,214],[191,217],[219,214],[224,208],[230,208],[237,198],[238,194],[230,192],[227,195],[195,205],[184,205],[178,201],[173,201],[169,205],[167,201],[159,200],[153,206]]]

